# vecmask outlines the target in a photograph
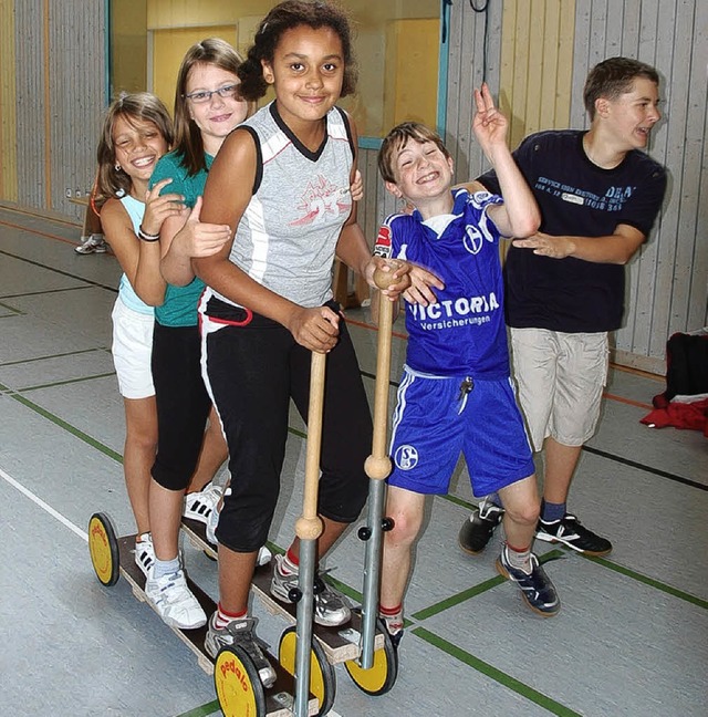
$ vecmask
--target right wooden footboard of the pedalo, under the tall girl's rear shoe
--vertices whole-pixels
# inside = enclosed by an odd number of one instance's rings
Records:
[[[207,540],[204,523],[198,520],[183,518],[181,527],[197,548],[204,550],[209,557],[217,558],[217,549]],[[275,600],[270,593],[274,561],[271,561],[269,565],[262,565],[256,569],[252,582],[253,592],[271,614],[281,615],[292,624],[295,624],[298,606],[294,603],[282,603]],[[315,623],[312,626],[312,634],[322,645],[327,662],[332,665],[339,665],[340,663],[358,658],[361,653],[361,631],[362,617],[357,612],[352,612],[352,620],[346,625],[325,627]],[[384,636],[381,633],[376,634],[374,648],[384,648]]]

